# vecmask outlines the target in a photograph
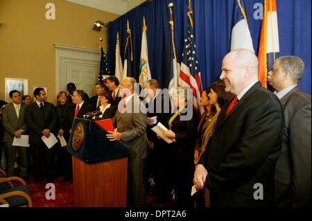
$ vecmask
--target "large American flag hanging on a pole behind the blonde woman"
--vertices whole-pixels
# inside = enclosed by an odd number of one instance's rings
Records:
[[[191,19],[191,18],[190,18]],[[187,24],[187,34],[184,37],[182,62],[179,76],[179,85],[193,90],[193,107],[200,114],[200,95],[202,94],[202,81],[200,80],[200,65],[196,54],[195,36],[191,27],[191,20]]]

